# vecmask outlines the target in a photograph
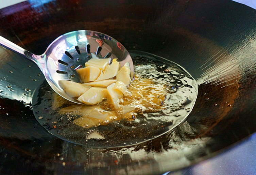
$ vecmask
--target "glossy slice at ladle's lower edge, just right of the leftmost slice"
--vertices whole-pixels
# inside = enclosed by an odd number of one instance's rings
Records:
[[[107,88],[104,87],[91,87],[83,95],[81,95],[77,100],[87,104],[95,105],[100,103],[107,97]]]

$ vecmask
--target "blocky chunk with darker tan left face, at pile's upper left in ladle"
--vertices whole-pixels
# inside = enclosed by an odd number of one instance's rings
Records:
[[[95,66],[88,66],[76,69],[76,72],[79,73],[82,82],[87,83],[95,81],[99,77],[101,70]]]

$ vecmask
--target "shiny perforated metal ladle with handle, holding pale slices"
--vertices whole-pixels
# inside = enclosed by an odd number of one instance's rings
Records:
[[[68,96],[59,86],[59,80],[81,82],[76,68],[84,67],[94,53],[98,58],[117,58],[120,66],[130,64],[131,79],[134,67],[129,52],[114,38],[96,31],[78,30],[64,34],[55,39],[45,53],[35,55],[28,50],[0,36],[0,45],[33,61],[45,75],[52,89],[63,98],[81,104]]]

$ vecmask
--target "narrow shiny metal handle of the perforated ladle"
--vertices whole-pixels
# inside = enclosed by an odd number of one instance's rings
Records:
[[[8,50],[11,50],[15,53],[20,54],[21,56],[23,56],[23,57],[25,57],[29,60],[32,60],[32,61],[36,62],[36,55],[35,54],[31,53],[28,50],[23,49],[22,47],[14,44],[13,42],[3,38],[2,36],[0,36],[0,45],[5,47]]]

